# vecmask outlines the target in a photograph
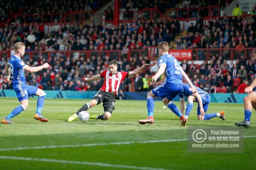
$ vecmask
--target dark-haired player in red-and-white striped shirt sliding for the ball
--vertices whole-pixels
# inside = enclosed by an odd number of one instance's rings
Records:
[[[94,96],[94,98],[87,104],[83,105],[74,115],[69,117],[69,122],[73,122],[81,111],[87,111],[89,108],[103,102],[104,114],[92,115],[90,118],[96,118],[101,120],[107,120],[111,117],[113,110],[115,109],[115,98],[118,92],[120,83],[127,77],[140,74],[140,72],[150,64],[144,64],[143,66],[130,71],[117,71],[117,62],[110,61],[108,70],[104,70],[100,75],[93,76],[91,78],[84,78],[83,81],[90,82],[104,78],[104,84]]]

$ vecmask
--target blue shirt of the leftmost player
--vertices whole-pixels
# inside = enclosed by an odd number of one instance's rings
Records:
[[[18,85],[26,85],[26,78],[23,69],[27,64],[15,55],[10,57],[8,63],[10,64],[13,88],[16,88]]]

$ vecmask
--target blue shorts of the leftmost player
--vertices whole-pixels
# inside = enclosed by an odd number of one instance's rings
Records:
[[[16,87],[16,88],[15,88]],[[23,101],[29,99],[29,95],[36,95],[36,92],[38,90],[35,86],[30,85],[14,85],[13,89],[16,92],[18,101]]]

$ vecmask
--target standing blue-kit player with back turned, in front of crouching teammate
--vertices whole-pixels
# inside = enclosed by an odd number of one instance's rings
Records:
[[[158,52],[160,55],[158,60],[159,69],[156,75],[152,77],[152,80],[154,82],[157,81],[163,73],[165,73],[166,79],[162,84],[147,93],[147,118],[139,120],[139,124],[144,125],[147,123],[154,123],[154,98],[156,98],[156,96],[160,96],[161,98],[167,98],[169,103],[167,107],[180,117],[181,126],[186,125],[186,118],[181,114],[177,106],[170,101],[172,101],[177,94],[182,92],[182,77],[184,77],[193,92],[196,92],[197,89],[190,82],[176,58],[168,54],[168,50],[169,46],[167,42],[164,41],[158,44]]]

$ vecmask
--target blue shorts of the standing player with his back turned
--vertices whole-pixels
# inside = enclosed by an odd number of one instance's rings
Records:
[[[155,96],[159,96],[162,99],[167,98],[169,101],[172,101],[182,90],[182,84],[166,85],[165,83],[162,83],[156,86],[152,92]]]

